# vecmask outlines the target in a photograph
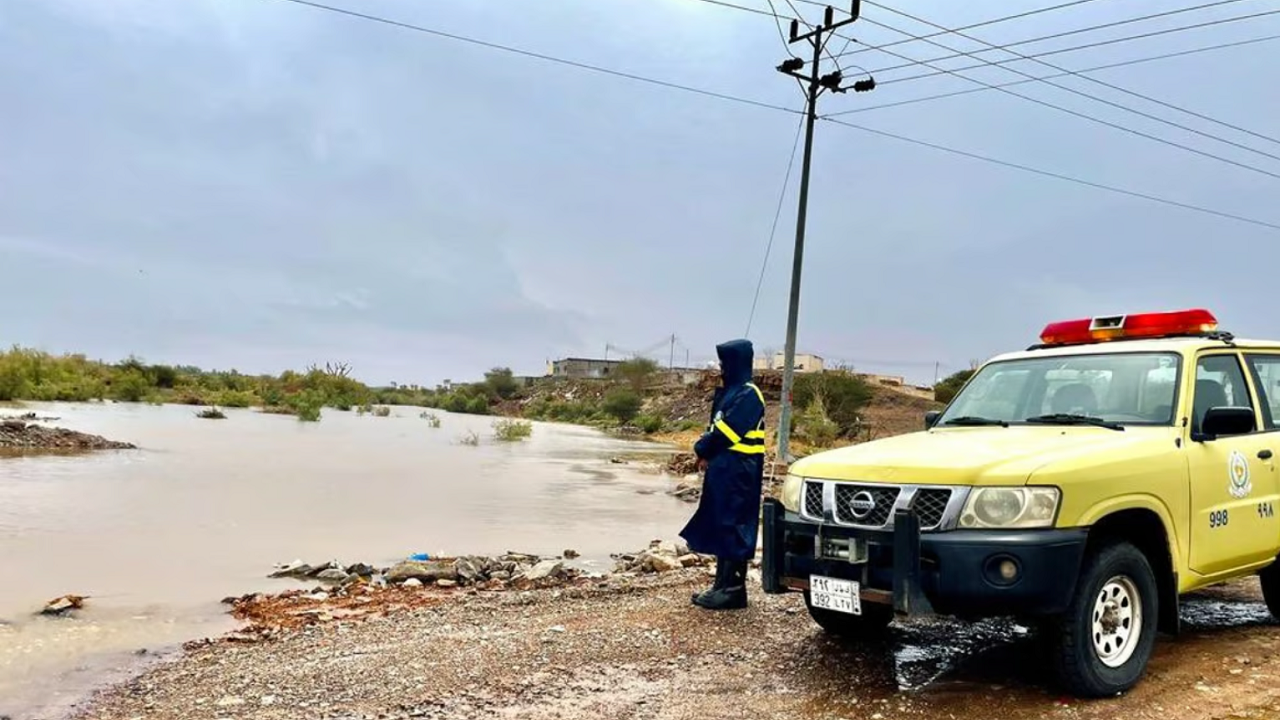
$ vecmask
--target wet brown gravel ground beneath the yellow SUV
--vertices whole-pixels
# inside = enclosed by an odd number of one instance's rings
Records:
[[[680,571],[608,587],[458,594],[364,623],[200,647],[81,717],[1280,719],[1280,625],[1256,583],[1187,598],[1129,694],[1076,702],[1011,623],[895,626],[846,646],[797,596],[707,614]],[[430,592],[430,591],[424,591]]]

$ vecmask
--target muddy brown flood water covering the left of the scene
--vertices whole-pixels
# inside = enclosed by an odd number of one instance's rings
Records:
[[[0,457],[0,716],[52,716],[140,650],[232,626],[219,601],[285,589],[276,562],[392,564],[415,552],[611,552],[675,539],[691,507],[620,454],[664,448],[535,424],[397,407],[320,423],[191,407],[32,404],[51,423],[137,451]],[[460,439],[468,432],[479,446]],[[91,596],[76,619],[32,614]]]

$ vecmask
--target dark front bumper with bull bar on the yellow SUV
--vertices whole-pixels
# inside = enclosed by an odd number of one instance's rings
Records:
[[[764,501],[762,529],[764,592],[808,591],[814,574],[858,580],[864,602],[892,605],[900,616],[1061,612],[1088,538],[1085,528],[922,533],[915,514],[902,509],[892,530],[861,530],[801,520],[776,498]],[[851,541],[865,543],[865,555],[832,556]],[[1018,569],[1011,582],[998,573],[1005,560]]]

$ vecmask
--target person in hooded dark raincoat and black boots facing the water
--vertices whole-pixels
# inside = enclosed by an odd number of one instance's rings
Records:
[[[716,580],[696,593],[694,605],[708,610],[746,607],[746,568],[755,556],[764,482],[764,395],[751,382],[751,342],[733,340],[716,346],[721,387],[712,400],[712,419],[694,446],[707,469],[703,496],[680,532],[689,550],[716,556]]]

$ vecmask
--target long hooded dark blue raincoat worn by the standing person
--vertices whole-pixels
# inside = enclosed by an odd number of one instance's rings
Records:
[[[764,419],[764,402],[751,382],[753,347],[735,340],[718,345],[723,387],[712,401],[712,423],[694,446],[707,460],[707,479],[698,511],[680,532],[689,548],[726,560],[750,560],[760,521],[760,492],[764,482],[764,455],[730,450],[735,443],[716,428],[719,418],[741,437],[758,430]],[[763,445],[763,439],[759,441]]]

